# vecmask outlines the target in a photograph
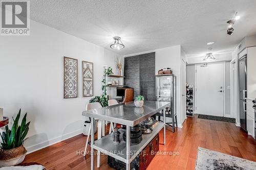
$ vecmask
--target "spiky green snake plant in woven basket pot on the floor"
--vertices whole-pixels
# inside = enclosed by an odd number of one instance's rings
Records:
[[[0,150],[0,167],[13,166],[21,163],[26,156],[27,150],[23,146],[26,136],[29,131],[29,123],[26,121],[27,113],[22,119],[22,123],[18,125],[20,117],[20,109],[15,117],[11,130],[8,125],[6,131],[1,135],[1,150]]]

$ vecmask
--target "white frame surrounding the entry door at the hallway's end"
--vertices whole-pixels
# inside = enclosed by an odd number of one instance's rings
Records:
[[[207,63],[207,65],[209,64],[220,64],[220,63],[223,63],[224,65],[224,68],[223,68],[223,117],[230,117],[230,115],[226,115],[226,62],[214,62],[214,63]],[[197,113],[197,66],[198,65],[203,65],[205,63],[200,63],[200,64],[195,64],[195,96],[194,96],[194,102],[195,102],[195,113]]]

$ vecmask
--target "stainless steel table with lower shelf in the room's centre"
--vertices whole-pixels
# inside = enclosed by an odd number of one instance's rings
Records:
[[[110,155],[122,162],[126,163],[126,170],[130,170],[130,163],[139,154],[140,151],[164,128],[164,144],[165,144],[165,108],[169,106],[168,102],[144,101],[141,108],[135,107],[134,102],[128,102],[119,105],[107,106],[88,111],[83,111],[83,116],[92,118],[92,136],[91,136],[91,154],[94,154],[94,149]],[[163,123],[158,123],[154,127],[153,132],[142,136],[142,141],[139,144],[130,143],[130,127],[141,123],[146,118],[163,110]],[[112,142],[113,133],[103,136],[94,141],[94,118],[107,120],[109,122],[126,125],[126,142],[120,135],[120,143]],[[124,154],[125,153],[125,154]],[[94,169],[94,156],[91,155],[91,169]]]

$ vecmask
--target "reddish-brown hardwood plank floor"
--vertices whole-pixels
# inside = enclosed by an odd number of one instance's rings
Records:
[[[166,129],[166,144],[160,144],[159,151],[166,151],[168,154],[156,155],[147,169],[195,169],[198,147],[256,161],[255,140],[232,123],[200,119],[196,116],[188,117],[183,128],[175,133],[168,126]],[[160,143],[163,143],[162,134],[163,131],[160,132]],[[27,155],[24,162],[38,162],[47,169],[56,170],[90,169],[90,155],[86,159],[79,155],[84,149],[85,141],[86,136],[82,134],[72,137]],[[170,152],[177,155],[170,155]],[[99,169],[112,169],[106,163],[105,155],[100,158]]]

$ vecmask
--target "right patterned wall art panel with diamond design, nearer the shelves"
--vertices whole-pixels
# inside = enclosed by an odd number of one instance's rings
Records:
[[[93,63],[82,61],[82,96],[93,96]]]

